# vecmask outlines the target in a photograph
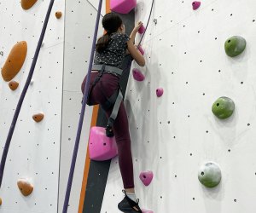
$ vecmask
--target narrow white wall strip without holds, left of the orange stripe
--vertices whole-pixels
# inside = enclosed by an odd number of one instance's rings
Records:
[[[103,1],[102,7],[105,8],[105,1]],[[83,82],[85,74],[88,72],[96,14],[96,9],[88,1],[66,2],[60,200],[58,212],[62,212],[65,199],[67,180],[73,157],[73,147],[79,124],[79,113],[82,107],[81,101],[83,95],[81,92],[81,83]],[[98,35],[102,35],[103,29],[101,26],[100,24]],[[87,106],[67,211],[70,213],[78,212],[79,210],[91,113],[92,107]]]

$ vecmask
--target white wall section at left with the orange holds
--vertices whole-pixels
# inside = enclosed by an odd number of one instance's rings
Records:
[[[25,1],[20,1],[24,3]],[[19,83],[15,90],[0,76],[0,145],[1,153],[9,127],[32,64],[32,57],[49,7],[49,1],[38,1],[30,9],[22,9],[19,1],[0,1],[0,66],[3,68],[15,43],[26,41],[27,53],[20,72],[13,80]],[[29,2],[29,1],[26,1]],[[56,11],[64,11],[65,3],[55,1],[44,45],[23,106],[21,107],[9,154],[5,164],[0,197],[1,212],[57,212],[59,158],[61,145],[61,99],[64,48],[64,17],[55,18]],[[19,52],[17,53],[19,55]],[[7,61],[8,62],[8,61]],[[11,60],[10,63],[14,63]],[[44,113],[36,123],[32,116]],[[27,178],[33,192],[24,197],[17,181]]]

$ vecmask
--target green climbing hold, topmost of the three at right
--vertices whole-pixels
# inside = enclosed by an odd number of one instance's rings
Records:
[[[247,42],[243,37],[235,36],[227,39],[224,47],[227,55],[230,57],[235,57],[243,52],[246,45]]]

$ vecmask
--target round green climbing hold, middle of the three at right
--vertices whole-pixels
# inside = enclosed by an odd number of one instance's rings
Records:
[[[229,118],[235,110],[235,103],[228,97],[220,97],[212,105],[213,114],[220,118]]]

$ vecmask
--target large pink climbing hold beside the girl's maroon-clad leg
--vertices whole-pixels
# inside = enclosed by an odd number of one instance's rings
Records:
[[[117,156],[117,146],[114,137],[107,137],[103,127],[94,126],[90,129],[89,138],[90,159],[103,161]]]

